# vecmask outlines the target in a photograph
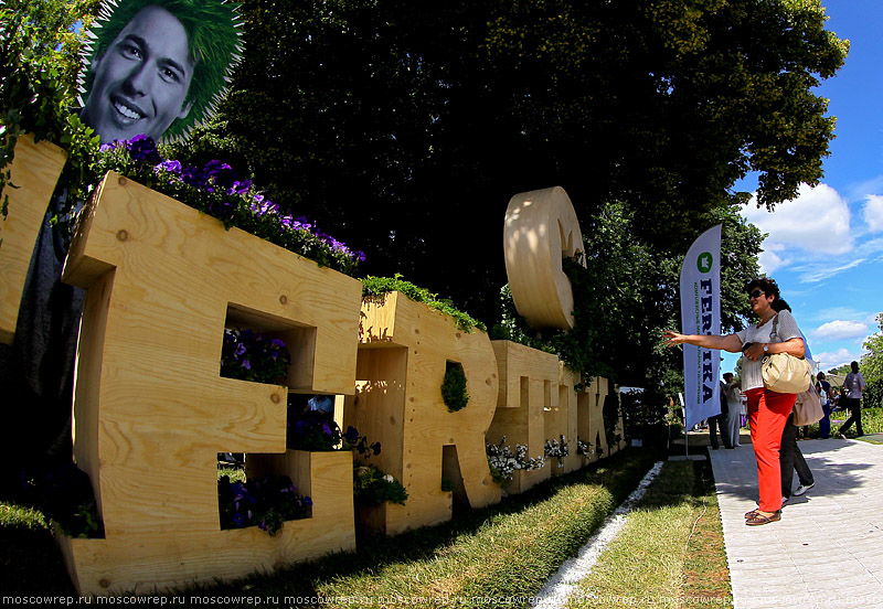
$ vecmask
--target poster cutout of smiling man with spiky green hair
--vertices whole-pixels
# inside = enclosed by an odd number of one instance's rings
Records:
[[[214,114],[242,51],[236,3],[108,0],[88,36],[79,117],[102,143],[175,141]]]

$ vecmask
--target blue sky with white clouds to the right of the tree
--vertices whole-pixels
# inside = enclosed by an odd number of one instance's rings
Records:
[[[818,89],[837,117],[825,177],[775,213],[749,204],[744,215],[769,233],[762,270],[779,284],[827,371],[860,359],[883,311],[883,1],[822,4],[826,29],[851,43],[845,65]],[[725,354],[721,372],[736,359]]]

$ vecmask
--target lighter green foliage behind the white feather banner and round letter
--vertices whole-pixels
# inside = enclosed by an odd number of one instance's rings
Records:
[[[751,314],[744,287],[757,276],[763,236],[735,206],[709,214],[708,222],[723,224],[721,303],[726,333],[743,328]],[[639,237],[640,223],[621,203],[604,205],[584,223],[585,266],[563,260],[574,291],[573,330],[530,329],[507,287],[501,292],[502,321],[491,338],[556,353],[583,374],[584,382],[604,376],[619,385],[643,387],[647,404],[666,404],[667,395],[683,387],[680,351],[662,346],[661,341],[663,329],[681,327],[678,285],[683,252],[655,249]]]

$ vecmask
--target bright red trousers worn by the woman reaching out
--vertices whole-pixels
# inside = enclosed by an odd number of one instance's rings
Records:
[[[785,423],[797,398],[795,394],[780,394],[765,388],[748,389],[748,420],[752,426],[752,446],[757,459],[757,485],[760,489],[760,511],[781,510],[781,469],[779,447]]]

